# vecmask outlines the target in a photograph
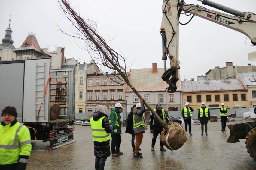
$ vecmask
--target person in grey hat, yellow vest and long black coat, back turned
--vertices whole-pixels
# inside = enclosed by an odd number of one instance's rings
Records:
[[[99,105],[98,109],[93,113],[90,119],[94,156],[95,156],[95,169],[104,169],[107,157],[110,156],[110,132],[112,131],[111,123],[108,120],[108,109],[105,106]]]

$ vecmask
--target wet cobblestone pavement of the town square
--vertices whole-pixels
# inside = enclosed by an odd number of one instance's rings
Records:
[[[242,122],[227,122],[233,124]],[[149,126],[149,125],[148,125]],[[184,126],[184,125],[182,125]],[[256,169],[254,161],[247,153],[245,139],[238,143],[226,143],[229,129],[221,131],[220,122],[208,123],[208,136],[201,136],[201,125],[192,124],[193,136],[188,136],[187,142],[178,150],[160,151],[159,138],[155,151],[151,151],[153,133],[146,130],[140,146],[143,158],[133,158],[131,147],[131,134],[125,133],[122,127],[122,143],[119,157],[108,157],[105,169],[114,170],[151,170],[151,169]],[[159,136],[158,136],[159,137]],[[90,126],[75,125],[75,143],[62,146],[56,150],[48,151],[49,143],[32,141],[33,150],[29,157],[27,170],[72,170],[94,169],[94,152],[92,130]]]

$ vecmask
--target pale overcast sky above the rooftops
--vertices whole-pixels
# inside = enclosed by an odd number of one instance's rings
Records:
[[[212,1],[239,11],[256,13],[255,0]],[[127,58],[126,65],[129,68],[151,68],[152,63],[157,63],[159,68],[163,68],[162,40],[159,33],[163,1],[72,0],[71,2],[81,17],[97,23],[98,32],[108,41],[111,48]],[[196,0],[185,2],[202,5]],[[70,32],[72,26],[66,16],[62,15],[56,0],[1,1],[0,39],[4,38],[10,14],[15,48],[22,45],[28,32],[34,32],[41,48],[49,46],[49,49],[52,49],[55,45],[65,47],[66,58],[75,57],[78,61],[90,62],[88,52],[77,46],[78,44],[83,47],[84,42],[59,31],[57,24],[66,32]],[[189,19],[190,16],[184,14],[180,17],[183,23]],[[256,29],[255,24],[252,29]],[[197,76],[205,75],[215,66],[225,67],[226,62],[233,62],[233,66],[245,66],[248,63],[256,65],[255,61],[248,62],[248,53],[256,51],[256,47],[252,46],[245,35],[200,17],[195,16],[189,24],[180,25],[179,37],[181,81],[184,78],[196,80]],[[166,67],[170,67],[168,60]]]

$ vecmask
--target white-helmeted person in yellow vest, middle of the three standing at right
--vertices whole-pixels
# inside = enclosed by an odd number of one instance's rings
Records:
[[[210,120],[210,110],[205,106],[205,102],[202,102],[201,105],[202,107],[198,110],[198,120],[200,120],[201,123],[201,135],[203,135],[203,125],[205,125],[205,135],[207,136],[207,123],[208,120]]]

